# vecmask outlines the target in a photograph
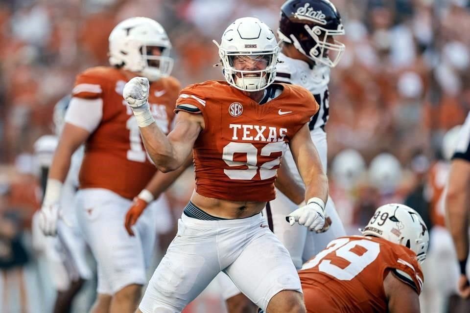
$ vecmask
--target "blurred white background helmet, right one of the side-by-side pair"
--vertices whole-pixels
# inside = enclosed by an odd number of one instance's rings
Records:
[[[369,180],[382,193],[393,192],[401,181],[400,161],[389,153],[374,157],[369,166]]]

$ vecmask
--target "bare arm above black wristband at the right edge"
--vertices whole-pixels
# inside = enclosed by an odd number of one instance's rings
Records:
[[[459,260],[469,255],[470,162],[455,159],[450,166],[446,196],[446,224]]]

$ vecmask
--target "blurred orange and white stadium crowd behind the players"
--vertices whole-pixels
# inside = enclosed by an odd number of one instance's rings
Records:
[[[217,49],[211,41],[220,40],[229,21],[257,16],[276,29],[282,2],[0,2],[0,260],[8,257],[13,241],[28,252],[27,260],[18,260],[17,267],[0,268],[0,312],[21,312],[22,307],[24,312],[47,312],[51,305],[53,291],[44,257],[31,245],[31,216],[40,206],[33,143],[52,132],[53,106],[70,93],[75,75],[107,64],[111,29],[132,16],[161,22],[173,45],[172,74],[186,86],[223,79],[220,68],[212,67]],[[346,148],[357,150],[366,163],[348,190],[337,187],[330,175],[338,211],[350,233],[367,222],[378,204],[392,200],[413,203],[428,220],[427,171],[441,157],[445,132],[462,124],[470,109],[469,1],[333,2],[345,24],[341,41],[347,48],[332,70],[329,164]],[[383,152],[400,161],[392,185],[377,184],[370,179],[374,174],[367,173],[367,165]],[[188,172],[167,193],[175,219],[191,191]],[[173,225],[166,230],[156,247],[155,264],[172,238]],[[209,288],[187,312],[223,312],[216,289]],[[93,290],[90,282],[74,312],[87,309]]]

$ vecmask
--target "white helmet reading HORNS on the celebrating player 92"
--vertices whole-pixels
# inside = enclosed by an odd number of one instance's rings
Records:
[[[245,17],[235,20],[222,35],[219,56],[224,67],[224,76],[233,87],[244,91],[265,89],[276,78],[279,44],[273,31],[257,18]],[[248,56],[262,58],[267,63],[262,70],[237,70],[234,58]]]

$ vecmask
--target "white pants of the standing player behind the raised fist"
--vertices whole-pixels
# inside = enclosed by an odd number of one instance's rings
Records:
[[[77,220],[96,260],[97,292],[112,295],[131,284],[144,285],[159,203],[149,204],[134,225],[135,236],[129,236],[124,221],[132,201],[101,188],[79,190],[76,197]]]

